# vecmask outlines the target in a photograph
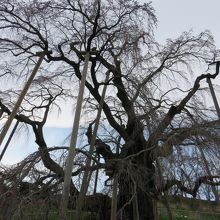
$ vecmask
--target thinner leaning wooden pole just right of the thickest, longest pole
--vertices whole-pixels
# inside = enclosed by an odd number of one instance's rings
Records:
[[[81,185],[81,189],[80,189],[80,194],[79,197],[77,199],[77,205],[76,205],[76,219],[77,220],[81,220],[82,219],[82,207],[83,207],[83,203],[84,203],[84,198],[88,189],[88,185],[90,182],[90,177],[91,175],[89,175],[89,167],[91,165],[91,159],[92,159],[92,154],[94,152],[94,147],[95,147],[95,141],[96,141],[96,135],[97,135],[97,131],[98,131],[98,127],[99,127],[99,121],[101,118],[101,113],[102,113],[102,107],[103,107],[103,103],[104,103],[104,98],[105,98],[105,94],[106,94],[106,90],[107,90],[107,82],[109,80],[109,71],[107,72],[106,75],[106,79],[105,79],[105,85],[102,91],[102,96],[99,102],[99,108],[98,108],[98,112],[97,112],[97,116],[96,116],[96,121],[95,121],[95,126],[94,126],[94,131],[92,134],[92,140],[91,140],[91,144],[90,144],[90,148],[89,148],[89,152],[88,152],[88,158],[86,160],[86,170],[84,172],[83,175],[83,180],[82,180],[82,185]]]

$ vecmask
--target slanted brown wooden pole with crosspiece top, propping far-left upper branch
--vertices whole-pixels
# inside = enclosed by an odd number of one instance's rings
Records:
[[[38,53],[36,53],[36,55],[40,56],[39,60],[36,63],[33,72],[31,73],[31,75],[30,75],[28,81],[26,82],[26,84],[25,84],[25,86],[24,86],[20,96],[18,97],[18,100],[17,100],[17,102],[15,104],[14,109],[12,110],[11,114],[8,117],[8,120],[6,121],[6,123],[5,123],[5,125],[4,125],[4,127],[2,129],[2,132],[0,134],[0,145],[2,144],[2,142],[3,142],[4,138],[5,138],[5,135],[7,134],[7,131],[9,129],[9,127],[10,127],[10,125],[11,125],[11,123],[12,123],[14,117],[15,117],[15,115],[17,114],[17,112],[19,110],[19,107],[20,107],[20,105],[21,105],[21,103],[22,103],[22,101],[23,101],[23,99],[24,99],[24,97],[25,97],[25,95],[26,95],[26,93],[27,93],[27,91],[28,91],[28,89],[29,89],[29,87],[30,87],[30,85],[31,85],[31,83],[32,83],[32,81],[33,81],[37,71],[38,71],[38,69],[40,68],[40,65],[41,65],[41,63],[42,63],[42,61],[44,59],[44,56],[46,54],[47,54],[46,52],[38,52]]]

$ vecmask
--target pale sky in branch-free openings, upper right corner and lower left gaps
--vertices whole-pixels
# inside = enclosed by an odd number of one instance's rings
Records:
[[[158,18],[155,37],[160,43],[165,43],[167,38],[178,37],[183,31],[193,29],[197,34],[208,29],[215,38],[217,48],[220,49],[219,0],[153,0],[152,6]],[[71,103],[63,105],[66,105],[64,112],[59,116],[50,115],[45,127],[48,146],[62,145],[71,132],[73,106]],[[37,145],[34,141],[32,132],[23,136],[16,135],[2,163],[9,165],[19,162],[29,153],[36,151]]]

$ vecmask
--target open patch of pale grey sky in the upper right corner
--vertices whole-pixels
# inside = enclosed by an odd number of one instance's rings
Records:
[[[191,28],[195,33],[210,30],[220,48],[219,0],[152,0],[158,18],[156,37],[164,42]]]

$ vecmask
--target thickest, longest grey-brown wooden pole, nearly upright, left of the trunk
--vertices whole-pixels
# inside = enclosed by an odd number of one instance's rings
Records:
[[[78,129],[79,129],[79,120],[81,115],[81,109],[82,109],[82,102],[83,102],[83,93],[85,88],[85,82],[86,82],[86,76],[88,71],[88,65],[89,65],[89,58],[90,54],[89,52],[86,52],[85,54],[85,64],[83,67],[82,72],[82,78],[79,88],[79,94],[76,104],[76,112],[73,122],[73,129],[72,129],[72,135],[70,140],[70,147],[69,147],[69,154],[66,160],[66,167],[64,171],[64,185],[63,185],[63,192],[62,192],[62,198],[60,202],[60,213],[59,213],[59,219],[65,220],[66,219],[66,211],[67,211],[67,205],[69,201],[69,192],[70,192],[70,183],[71,183],[71,176],[72,176],[72,170],[73,170],[73,162],[76,154],[76,142],[77,142],[77,135],[78,135]]]

